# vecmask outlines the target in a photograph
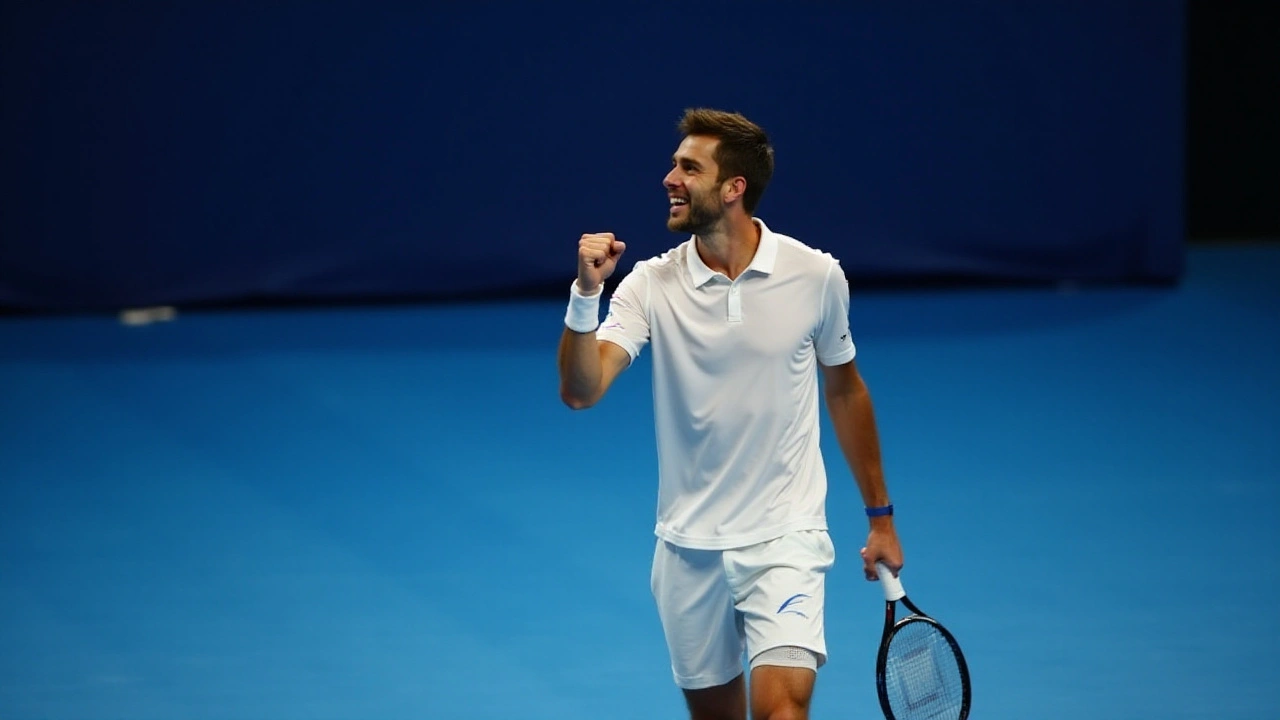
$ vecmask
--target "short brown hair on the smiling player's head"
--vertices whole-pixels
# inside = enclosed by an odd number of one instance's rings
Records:
[[[746,191],[742,193],[742,209],[754,213],[764,195],[764,188],[773,177],[773,146],[764,129],[739,113],[726,113],[708,108],[690,108],[680,119],[680,133],[714,137],[716,164],[719,165],[717,182],[742,176],[746,178]]]

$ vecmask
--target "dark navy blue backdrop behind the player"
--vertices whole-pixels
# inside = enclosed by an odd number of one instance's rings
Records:
[[[1181,1],[6,3],[0,305],[448,296],[634,259],[689,105],[854,278],[1167,281]]]

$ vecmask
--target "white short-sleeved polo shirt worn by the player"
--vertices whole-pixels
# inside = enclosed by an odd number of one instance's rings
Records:
[[[818,363],[854,359],[840,263],[760,222],[730,281],[694,240],[636,263],[599,340],[653,346],[658,537],[703,550],[826,529]]]

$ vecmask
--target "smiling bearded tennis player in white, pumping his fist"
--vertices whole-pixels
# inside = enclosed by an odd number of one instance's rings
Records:
[[[827,660],[835,561],[819,387],[867,505],[863,571],[874,580],[876,561],[902,566],[854,364],[849,284],[835,258],[753,217],[773,176],[759,126],[691,109],[678,127],[667,227],[691,237],[636,263],[603,324],[603,283],[626,246],[612,233],[581,237],[561,397],[590,407],[652,347],[660,475],[650,584],[676,684],[694,720],[745,720],[749,705],[756,720],[803,719]]]

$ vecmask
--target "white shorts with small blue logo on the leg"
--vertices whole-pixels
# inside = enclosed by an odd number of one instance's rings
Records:
[[[684,689],[723,685],[744,660],[803,647],[827,661],[823,603],[836,550],[827,530],[800,530],[735,550],[658,541],[650,587]]]

